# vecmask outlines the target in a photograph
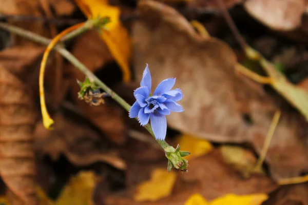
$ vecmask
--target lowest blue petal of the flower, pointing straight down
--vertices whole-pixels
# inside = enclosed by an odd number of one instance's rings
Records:
[[[166,116],[160,113],[151,113],[151,127],[156,139],[164,140],[167,132]]]

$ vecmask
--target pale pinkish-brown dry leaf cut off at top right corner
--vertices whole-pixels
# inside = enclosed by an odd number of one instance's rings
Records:
[[[266,26],[276,30],[293,30],[301,24],[305,0],[248,0],[246,11]]]

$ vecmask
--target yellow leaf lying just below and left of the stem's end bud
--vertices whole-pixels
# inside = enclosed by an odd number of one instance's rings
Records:
[[[155,169],[148,181],[141,183],[134,195],[136,201],[156,201],[169,196],[176,182],[177,175],[165,169]]]

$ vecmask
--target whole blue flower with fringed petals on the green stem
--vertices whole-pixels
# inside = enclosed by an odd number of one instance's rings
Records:
[[[152,79],[148,64],[143,72],[140,88],[134,91],[136,102],[129,111],[130,118],[139,118],[140,124],[146,125],[149,120],[156,139],[163,140],[166,137],[167,120],[165,115],[173,112],[183,112],[182,106],[176,102],[183,98],[180,89],[171,90],[176,83],[176,78],[163,80],[151,94]]]

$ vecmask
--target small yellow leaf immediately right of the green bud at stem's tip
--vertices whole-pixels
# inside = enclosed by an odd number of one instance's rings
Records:
[[[190,152],[190,155],[185,157],[187,160],[202,156],[213,150],[213,145],[211,145],[208,140],[200,139],[188,134],[180,136],[178,144],[181,146],[181,150],[187,150]]]

